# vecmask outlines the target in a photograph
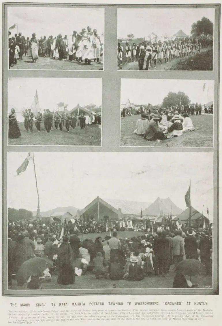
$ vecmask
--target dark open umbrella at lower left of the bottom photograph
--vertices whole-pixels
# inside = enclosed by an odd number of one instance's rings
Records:
[[[31,275],[40,276],[49,267],[53,267],[53,261],[45,257],[34,257],[26,260],[16,274],[18,285],[22,286]]]

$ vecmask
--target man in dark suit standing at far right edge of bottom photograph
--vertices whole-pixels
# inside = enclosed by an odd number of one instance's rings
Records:
[[[207,275],[211,274],[210,256],[211,256],[211,249],[213,246],[213,241],[209,237],[209,234],[210,234],[209,231],[205,231],[205,235],[202,236],[200,243],[199,243],[201,262],[206,267]]]

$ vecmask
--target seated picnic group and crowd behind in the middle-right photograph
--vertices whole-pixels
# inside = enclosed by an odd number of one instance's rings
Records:
[[[213,105],[187,104],[167,108],[140,107],[140,118],[137,120],[134,133],[147,141],[164,140],[182,136],[184,132],[197,130],[190,116],[201,115],[202,112],[213,114]],[[121,116],[137,114],[133,108],[123,108]]]

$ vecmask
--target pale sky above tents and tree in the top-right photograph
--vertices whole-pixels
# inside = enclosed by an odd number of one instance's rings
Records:
[[[203,16],[214,23],[214,9],[117,9],[117,37],[126,38],[127,34],[146,37],[154,32],[158,36],[165,33],[170,37],[182,29],[190,35],[191,25]]]

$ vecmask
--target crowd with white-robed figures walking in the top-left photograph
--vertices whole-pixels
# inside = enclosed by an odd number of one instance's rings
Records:
[[[31,57],[33,62],[41,56],[90,65],[92,61],[100,62],[103,55],[100,36],[97,30],[92,30],[90,26],[83,28],[79,33],[73,31],[69,37],[59,34],[57,37],[50,35],[48,38],[41,36],[37,39],[33,33],[31,38],[25,38],[21,32],[12,36],[10,31],[8,37],[9,68],[23,60],[23,57]]]

